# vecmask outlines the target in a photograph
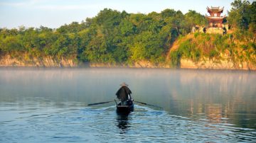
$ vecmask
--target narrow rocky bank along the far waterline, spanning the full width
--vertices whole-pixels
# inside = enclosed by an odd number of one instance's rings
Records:
[[[41,59],[17,59],[5,56],[0,59],[0,67],[127,67],[127,68],[167,68],[176,69],[171,67],[168,62],[162,64],[152,64],[151,62],[141,61],[134,62],[133,64],[110,64],[110,63],[96,63],[96,62],[77,62],[74,59],[60,60],[50,57]],[[256,66],[250,62],[234,63],[230,59],[213,60],[203,59],[198,62],[193,62],[191,59],[181,59],[180,67],[178,69],[232,69],[232,70],[255,70]]]

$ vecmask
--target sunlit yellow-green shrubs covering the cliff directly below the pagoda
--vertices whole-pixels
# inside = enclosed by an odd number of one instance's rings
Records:
[[[234,33],[235,34],[235,33]],[[238,35],[235,35],[237,37]],[[203,59],[218,62],[223,58],[237,62],[251,62],[256,64],[255,42],[248,42],[247,36],[239,34],[240,40],[233,42],[231,35],[195,33],[193,38],[186,36],[179,39],[177,50],[171,51],[170,59],[172,67],[179,67],[181,59],[191,59],[193,62],[199,62]]]

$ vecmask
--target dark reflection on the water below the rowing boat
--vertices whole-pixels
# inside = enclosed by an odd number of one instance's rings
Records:
[[[119,113],[117,112],[117,127],[120,129],[120,134],[124,134],[129,130],[130,123],[129,120],[131,120],[131,115],[130,113]]]

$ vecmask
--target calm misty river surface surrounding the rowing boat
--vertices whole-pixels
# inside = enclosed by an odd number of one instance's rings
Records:
[[[117,115],[123,81],[136,104]],[[0,69],[0,142],[255,142],[256,72]]]

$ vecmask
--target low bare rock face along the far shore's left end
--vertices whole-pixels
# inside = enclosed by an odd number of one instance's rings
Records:
[[[1,57],[0,67],[77,67],[78,62],[73,59],[54,59],[43,57],[42,59],[17,59],[9,55]]]

